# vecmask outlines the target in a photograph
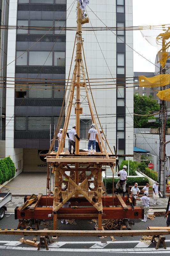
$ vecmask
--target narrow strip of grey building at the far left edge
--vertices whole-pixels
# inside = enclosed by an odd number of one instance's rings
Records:
[[[5,116],[6,116],[6,61],[7,61],[7,42],[8,30],[4,29],[4,25],[8,26],[9,0],[0,1],[0,158],[5,157]],[[7,79],[8,80],[8,79]]]

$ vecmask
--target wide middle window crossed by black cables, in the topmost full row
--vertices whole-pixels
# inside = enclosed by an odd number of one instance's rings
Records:
[[[30,20],[30,27],[47,27],[46,30],[41,28],[34,28],[29,31],[30,34],[53,34],[53,30],[51,29],[53,26],[53,20]]]

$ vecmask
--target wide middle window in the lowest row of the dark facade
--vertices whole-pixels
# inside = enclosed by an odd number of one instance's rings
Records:
[[[28,131],[50,131],[50,116],[28,116]]]

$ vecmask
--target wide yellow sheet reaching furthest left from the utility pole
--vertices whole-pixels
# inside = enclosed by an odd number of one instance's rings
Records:
[[[139,86],[159,87],[169,84],[170,74],[161,74],[153,77],[139,76]]]

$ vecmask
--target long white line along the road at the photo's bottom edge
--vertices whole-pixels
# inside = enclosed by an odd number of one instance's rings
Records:
[[[1,245],[0,246],[0,249],[11,249],[11,250],[23,250],[23,251],[26,251],[26,250],[29,250],[29,251],[37,251],[37,248],[32,248],[32,247],[19,247],[19,246],[5,246],[5,245]],[[48,252],[106,252],[106,253],[154,253],[154,254],[157,254],[157,253],[166,253],[168,255],[170,255],[170,247],[167,247],[166,250],[162,250],[162,248],[158,248],[158,250],[156,250],[155,248],[129,248],[129,249],[125,249],[125,248],[122,248],[122,249],[104,249],[104,248],[101,248],[101,249],[98,249],[98,248],[95,248],[95,249],[88,249],[88,248],[83,248],[83,249],[74,249],[74,248],[49,248],[49,251],[46,250],[46,248],[41,248],[40,249],[41,251],[45,251],[46,253]]]

